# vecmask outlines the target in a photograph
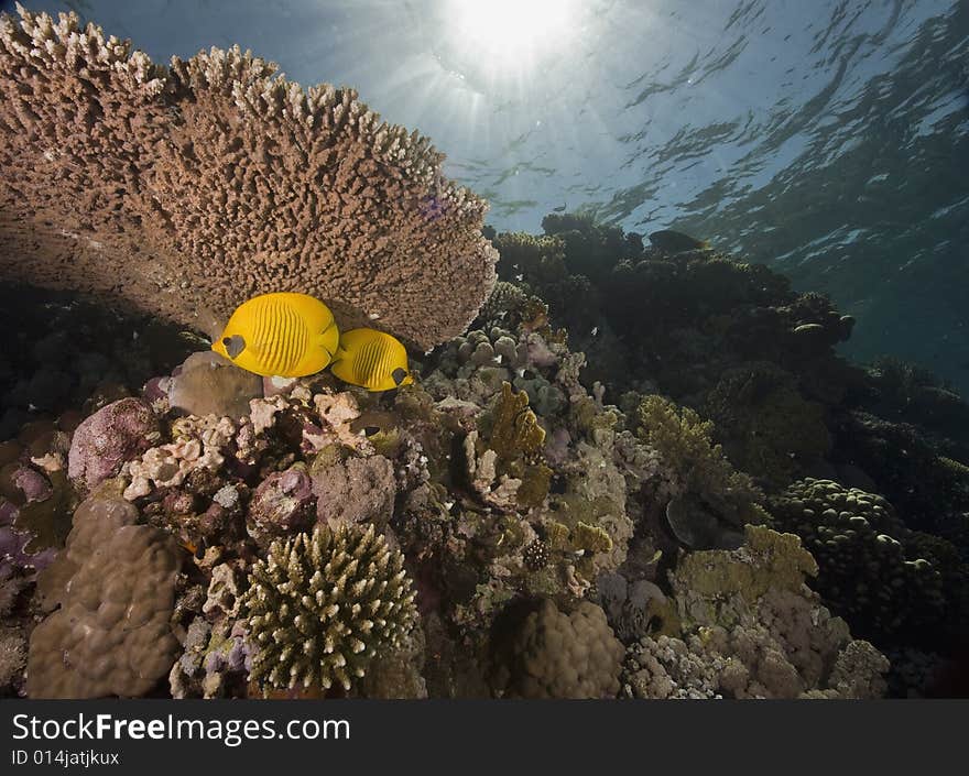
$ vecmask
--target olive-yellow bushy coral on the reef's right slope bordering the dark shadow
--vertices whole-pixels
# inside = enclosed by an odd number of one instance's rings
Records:
[[[673,495],[671,505],[676,507],[667,510],[667,516],[681,540],[695,548],[710,548],[717,543],[708,522],[740,527],[770,518],[761,507],[760,489],[730,466],[720,445],[714,444],[712,423],[689,407],[655,395],[643,398],[638,415],[638,435],[663,461]]]

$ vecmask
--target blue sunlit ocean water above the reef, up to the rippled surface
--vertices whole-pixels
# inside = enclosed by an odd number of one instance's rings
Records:
[[[966,0],[74,0],[156,61],[239,43],[447,153],[499,230],[676,228],[969,393]]]

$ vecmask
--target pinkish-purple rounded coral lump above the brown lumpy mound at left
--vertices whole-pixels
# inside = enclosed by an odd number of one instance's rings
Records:
[[[67,474],[88,490],[121,470],[124,461],[157,441],[159,422],[140,398],[122,398],[101,407],[74,433],[67,457]]]

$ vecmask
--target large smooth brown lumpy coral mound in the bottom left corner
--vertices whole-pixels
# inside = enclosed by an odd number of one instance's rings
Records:
[[[165,533],[137,518],[122,499],[77,507],[66,550],[40,581],[61,609],[31,634],[31,698],[141,696],[172,668],[178,559]]]

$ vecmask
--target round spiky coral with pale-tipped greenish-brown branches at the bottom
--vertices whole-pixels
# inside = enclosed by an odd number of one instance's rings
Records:
[[[249,580],[242,606],[259,647],[252,678],[263,687],[349,690],[416,617],[404,556],[372,525],[274,542]]]

